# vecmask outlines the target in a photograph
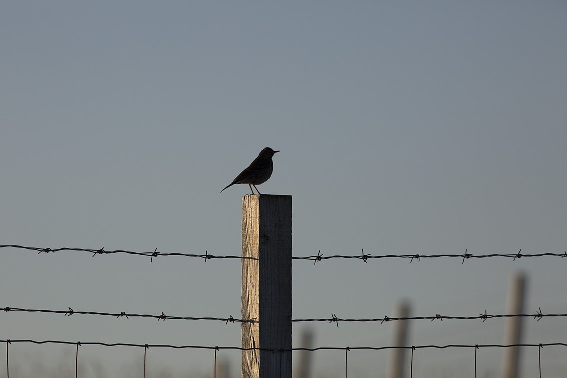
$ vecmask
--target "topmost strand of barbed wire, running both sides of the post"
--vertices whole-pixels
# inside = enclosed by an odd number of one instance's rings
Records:
[[[62,251],[75,251],[75,252],[87,252],[95,257],[99,254],[129,254],[133,256],[142,256],[142,257],[150,257],[150,262],[154,261],[154,258],[157,257],[171,257],[171,256],[180,256],[180,257],[193,257],[193,258],[202,258],[203,260],[221,260],[221,259],[236,259],[236,260],[258,260],[254,257],[242,257],[242,256],[217,256],[213,254],[209,254],[208,251],[205,251],[205,254],[188,254],[188,253],[162,253],[158,252],[158,249],[155,248],[154,252],[133,252],[129,250],[105,250],[104,248],[100,249],[86,249],[86,248],[40,248],[40,247],[23,247],[22,245],[0,245],[0,248],[14,248],[14,249],[26,249],[26,250],[33,250],[38,252],[37,254],[41,253],[56,253]],[[321,262],[324,260],[332,260],[332,259],[346,259],[346,260],[362,260],[363,262],[368,262],[372,259],[382,259],[382,258],[403,258],[409,260],[410,263],[415,261],[421,261],[422,258],[459,258],[463,259],[462,264],[466,260],[471,258],[494,258],[494,257],[503,257],[503,258],[511,258],[513,261],[519,260],[523,257],[567,257],[567,251],[564,253],[536,253],[536,254],[528,254],[522,253],[522,249],[519,250],[518,253],[492,253],[492,254],[479,254],[475,255],[472,253],[468,253],[468,249],[465,249],[464,254],[384,254],[378,256],[372,256],[372,254],[365,254],[364,249],[362,249],[361,255],[351,255],[351,256],[344,256],[344,255],[333,255],[333,256],[324,256],[319,253],[316,256],[307,256],[307,257],[291,257],[292,260],[306,260],[306,261],[314,261],[314,265],[317,262]]]

